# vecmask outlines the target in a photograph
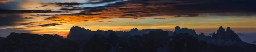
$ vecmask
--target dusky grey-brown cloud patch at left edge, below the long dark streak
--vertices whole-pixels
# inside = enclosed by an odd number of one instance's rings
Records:
[[[18,22],[23,21],[20,15],[3,15],[0,17],[0,26],[12,26],[17,25]]]

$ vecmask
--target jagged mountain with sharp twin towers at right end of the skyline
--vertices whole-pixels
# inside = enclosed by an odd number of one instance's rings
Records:
[[[238,34],[236,34],[230,27],[227,27],[226,31],[221,26],[217,33],[212,34],[213,44],[216,45],[237,45],[237,46],[246,46],[247,43],[243,42]]]

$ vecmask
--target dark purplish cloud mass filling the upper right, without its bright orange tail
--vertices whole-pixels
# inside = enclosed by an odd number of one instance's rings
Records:
[[[120,14],[119,18],[179,15],[199,16],[189,13],[246,13],[256,12],[255,0],[130,0],[106,6],[90,7],[87,12],[98,14]],[[104,16],[107,17],[107,16]]]

